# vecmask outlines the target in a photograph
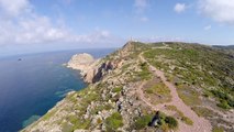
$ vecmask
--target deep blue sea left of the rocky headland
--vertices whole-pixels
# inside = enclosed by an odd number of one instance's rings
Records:
[[[113,51],[77,50],[0,58],[0,132],[21,130],[67,92],[86,87],[77,70],[63,66],[74,54],[89,53],[99,58]]]

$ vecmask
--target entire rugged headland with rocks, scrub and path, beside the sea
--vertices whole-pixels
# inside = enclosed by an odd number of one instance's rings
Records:
[[[129,42],[102,59],[76,55],[68,66],[89,86],[23,132],[234,131],[234,57],[222,50]]]

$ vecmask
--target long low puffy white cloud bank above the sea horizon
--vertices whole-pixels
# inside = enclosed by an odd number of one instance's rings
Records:
[[[0,45],[38,43],[110,43],[114,38],[109,31],[97,30],[89,34],[74,34],[69,29],[54,26],[46,16],[25,19],[15,25],[0,22]],[[13,32],[12,32],[13,31]]]

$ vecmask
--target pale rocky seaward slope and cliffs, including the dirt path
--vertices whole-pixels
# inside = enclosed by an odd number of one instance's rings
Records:
[[[152,47],[129,42],[123,48],[98,61],[87,54],[75,55],[68,67],[81,70],[83,79],[90,85],[68,94],[44,117],[22,131],[232,132],[233,111],[215,109],[229,117],[226,120],[218,117],[218,120],[225,121],[221,122],[222,125],[216,125],[213,119],[200,117],[180,99],[177,86],[169,81],[168,75],[145,58],[144,52],[152,48],[171,47],[164,43]]]

